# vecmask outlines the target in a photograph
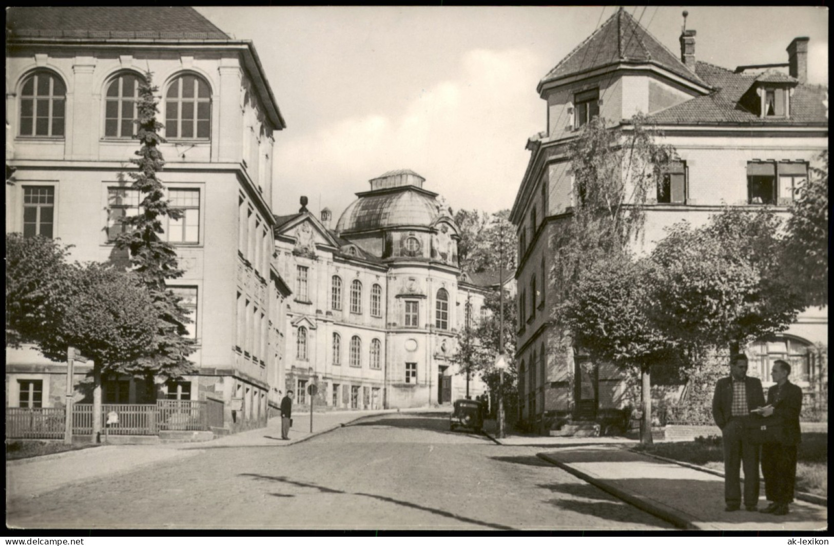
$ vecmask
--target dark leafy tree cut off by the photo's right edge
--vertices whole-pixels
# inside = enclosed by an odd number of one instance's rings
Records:
[[[822,307],[828,304],[828,151],[817,159],[821,165],[811,167],[791,205],[783,268],[806,304]]]

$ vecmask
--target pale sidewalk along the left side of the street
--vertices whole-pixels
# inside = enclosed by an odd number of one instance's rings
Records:
[[[420,412],[446,412],[446,409],[416,409]],[[334,411],[313,413],[313,433],[310,433],[308,413],[293,413],[293,428],[289,440],[281,439],[281,419],[269,419],[265,428],[255,428],[198,443],[162,443],[153,445],[103,445],[23,458],[6,463],[6,503],[14,498],[38,497],[70,483],[86,482],[111,474],[132,472],[149,464],[175,458],[192,457],[211,448],[240,448],[254,446],[285,447],[304,442],[322,433],[339,428],[356,419],[397,410]]]

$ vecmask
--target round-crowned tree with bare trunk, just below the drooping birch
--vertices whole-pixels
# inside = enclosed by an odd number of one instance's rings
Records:
[[[563,306],[574,343],[596,361],[641,374],[641,443],[651,444],[651,371],[691,365],[681,345],[670,341],[644,313],[651,290],[645,262],[626,253],[593,263]]]

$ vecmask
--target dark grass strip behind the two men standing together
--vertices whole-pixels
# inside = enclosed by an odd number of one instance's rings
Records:
[[[656,443],[648,447],[637,445],[635,449],[724,471],[720,436],[699,437],[694,442]],[[802,433],[802,443],[796,453],[796,490],[828,496],[828,433]]]

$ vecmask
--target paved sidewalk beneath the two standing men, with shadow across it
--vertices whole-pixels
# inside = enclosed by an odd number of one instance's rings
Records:
[[[828,527],[825,506],[796,500],[786,516],[746,512],[743,508],[725,512],[724,478],[720,476],[617,446],[563,445],[558,451],[539,453],[539,457],[681,528],[811,531]],[[761,488],[759,508],[766,505]]]

